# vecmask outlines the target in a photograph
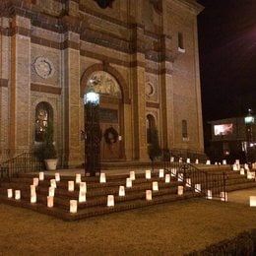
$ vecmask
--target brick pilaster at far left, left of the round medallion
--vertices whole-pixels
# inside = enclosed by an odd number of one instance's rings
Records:
[[[10,149],[19,154],[30,149],[31,20],[16,16],[11,38]]]

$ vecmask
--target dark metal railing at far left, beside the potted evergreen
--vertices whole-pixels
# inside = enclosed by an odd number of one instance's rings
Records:
[[[23,153],[13,159],[0,163],[0,181],[9,180],[19,173],[37,171],[43,169],[41,161],[37,160],[32,153]]]

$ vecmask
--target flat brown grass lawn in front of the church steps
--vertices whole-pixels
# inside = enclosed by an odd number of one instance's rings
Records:
[[[256,228],[256,208],[192,199],[74,223],[0,205],[0,255],[183,255]]]

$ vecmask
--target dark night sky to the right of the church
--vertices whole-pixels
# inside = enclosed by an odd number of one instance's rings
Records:
[[[204,121],[256,113],[256,0],[198,0]]]

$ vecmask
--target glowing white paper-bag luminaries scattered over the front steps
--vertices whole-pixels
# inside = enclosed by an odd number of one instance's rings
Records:
[[[183,182],[183,173],[177,173],[176,168],[171,168],[170,174],[164,175],[164,170],[160,169],[159,171],[159,177],[165,179],[165,183],[170,182],[170,176],[177,177],[177,180],[180,182]],[[152,171],[146,170],[146,179],[150,180],[152,178]],[[130,177],[126,178],[126,188],[132,187],[132,181],[135,180],[135,171],[130,171]],[[31,203],[36,203],[36,187],[39,185],[39,180],[44,180],[44,172],[39,172],[39,177],[34,177],[32,179],[32,185],[31,185]],[[48,189],[48,196],[47,196],[47,207],[52,208],[54,206],[54,194],[55,189],[57,188],[57,183],[60,181],[60,173],[55,173],[55,178],[50,179],[50,187]],[[75,182],[79,184],[79,199],[78,200],[70,200],[70,213],[77,213],[78,203],[84,203],[87,201],[86,193],[87,193],[87,183],[82,182],[81,180],[81,174],[77,173]],[[75,182],[74,180],[68,181],[68,191],[72,192],[75,190]],[[99,182],[105,183],[106,182],[106,176],[105,173],[100,173],[99,176]],[[152,190],[146,190],[146,200],[152,200],[152,191],[159,191],[159,183],[158,181],[153,181],[153,187]],[[187,187],[191,187],[191,179],[186,178],[185,182]],[[183,186],[178,186],[177,194],[183,195]],[[201,192],[201,184],[195,184],[195,192],[200,193]],[[224,193],[224,192],[222,192]],[[7,189],[8,198],[13,198],[13,189],[9,188]],[[125,187],[119,186],[119,193],[118,196],[122,197],[125,196]],[[225,199],[226,201],[226,194],[221,195],[222,200]],[[21,199],[21,190],[15,190],[15,199],[20,200]],[[212,199],[212,191],[207,191],[207,199]],[[224,201],[224,200],[223,200]],[[114,206],[114,195],[108,195],[107,196],[107,207],[113,207]]]

